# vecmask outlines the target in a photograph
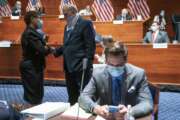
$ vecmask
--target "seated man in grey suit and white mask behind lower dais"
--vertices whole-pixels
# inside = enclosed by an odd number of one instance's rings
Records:
[[[150,31],[146,33],[144,43],[169,43],[167,32],[160,30],[158,22],[153,22]]]

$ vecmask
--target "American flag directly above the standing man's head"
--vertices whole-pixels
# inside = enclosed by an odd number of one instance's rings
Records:
[[[64,7],[64,5],[68,5],[68,4],[72,4],[77,8],[74,0],[61,0],[61,4],[59,6],[60,15],[63,15],[63,7]]]

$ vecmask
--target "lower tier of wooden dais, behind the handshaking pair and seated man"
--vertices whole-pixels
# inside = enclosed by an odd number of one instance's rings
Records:
[[[127,47],[128,62],[144,68],[150,82],[180,85],[180,45],[169,45],[167,49],[153,49],[152,45],[142,44],[127,44]],[[102,48],[97,46],[96,53],[101,52]],[[0,56],[0,78],[19,79],[21,46],[14,44],[10,48],[0,48]],[[49,55],[46,63],[46,79],[64,80],[62,57]]]

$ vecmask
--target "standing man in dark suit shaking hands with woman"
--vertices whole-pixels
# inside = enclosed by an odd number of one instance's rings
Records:
[[[67,21],[64,29],[64,44],[55,49],[54,55],[64,57],[65,79],[69,102],[77,102],[82,79],[82,61],[87,59],[87,69],[84,76],[85,86],[92,74],[92,64],[95,53],[95,31],[89,20],[84,20],[73,5],[65,5],[63,14]]]

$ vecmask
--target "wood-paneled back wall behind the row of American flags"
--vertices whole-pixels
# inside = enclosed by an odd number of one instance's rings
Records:
[[[10,5],[13,6],[16,0],[8,0]],[[28,0],[20,0],[23,4],[23,14],[25,13],[25,7],[27,6]],[[45,12],[48,15],[59,14],[58,6],[60,0],[41,0],[45,8]],[[85,8],[86,5],[91,5],[93,0],[75,0],[78,9]],[[111,0],[112,5],[115,9],[115,16],[120,13],[121,9],[127,6],[128,0]],[[160,10],[164,9],[167,14],[168,26],[167,30],[169,35],[174,35],[171,25],[171,15],[173,13],[180,14],[180,0],[148,0],[148,5],[151,10],[151,16],[159,14]]]

